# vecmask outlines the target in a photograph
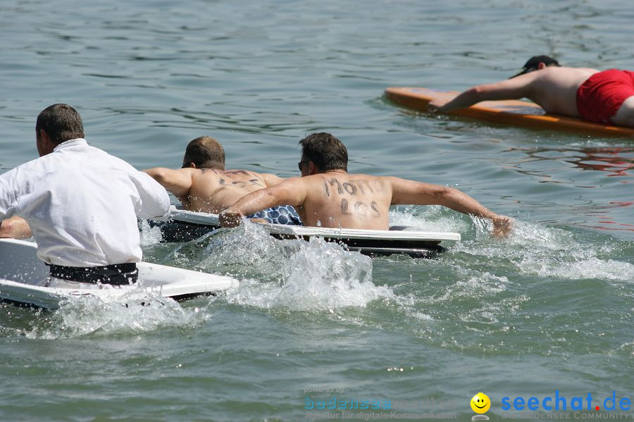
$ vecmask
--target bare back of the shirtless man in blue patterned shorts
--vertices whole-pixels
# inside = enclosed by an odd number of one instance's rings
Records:
[[[192,187],[187,197],[179,197],[189,211],[219,213],[244,195],[267,187],[259,173],[247,170],[192,168]]]

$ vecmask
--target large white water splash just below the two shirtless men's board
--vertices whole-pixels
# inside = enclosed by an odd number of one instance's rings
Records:
[[[267,241],[263,244],[258,237],[257,242],[251,240],[243,248],[240,246],[245,243],[240,240],[242,236],[258,236],[253,232],[254,228],[243,230],[235,232],[237,238],[233,240],[226,238],[219,254],[227,256],[231,253],[233,258],[239,256],[240,263],[266,261],[270,281],[243,280],[239,288],[227,294],[228,301],[232,303],[266,309],[335,311],[393,297],[389,287],[373,285],[372,261],[368,256],[348,252],[339,244],[318,238],[309,242],[275,240],[266,233]]]

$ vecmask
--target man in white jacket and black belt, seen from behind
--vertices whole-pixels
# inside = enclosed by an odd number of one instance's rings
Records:
[[[142,259],[137,217],[167,218],[166,190],[89,146],[81,116],[67,104],[39,113],[35,137],[39,159],[0,175],[0,232],[32,231],[50,268],[48,287],[134,283]]]

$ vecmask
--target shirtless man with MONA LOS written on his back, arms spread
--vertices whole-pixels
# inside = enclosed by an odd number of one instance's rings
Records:
[[[388,230],[390,205],[442,205],[493,222],[494,235],[506,235],[511,219],[489,211],[451,187],[392,177],[349,174],[344,144],[328,133],[302,139],[301,178],[257,190],[220,213],[220,224],[234,227],[243,216],[278,204],[291,204],[304,225],[323,228]]]

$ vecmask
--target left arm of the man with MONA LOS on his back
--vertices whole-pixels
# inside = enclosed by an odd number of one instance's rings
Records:
[[[304,206],[306,182],[302,178],[290,178],[273,187],[256,190],[240,198],[220,213],[218,221],[223,227],[240,225],[244,216],[278,205]]]

